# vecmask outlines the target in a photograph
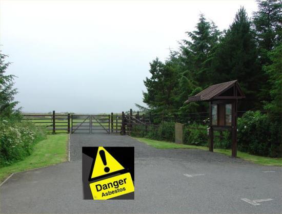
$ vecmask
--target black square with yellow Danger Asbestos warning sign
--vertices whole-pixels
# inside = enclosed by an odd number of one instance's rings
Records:
[[[84,199],[134,199],[134,147],[83,147]]]

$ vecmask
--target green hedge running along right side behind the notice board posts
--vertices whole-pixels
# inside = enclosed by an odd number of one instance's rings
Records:
[[[175,123],[133,127],[132,136],[174,142]],[[261,112],[246,112],[238,118],[238,150],[253,155],[281,157],[281,121]],[[199,128],[199,129],[191,129]],[[184,143],[209,146],[208,126],[196,123],[184,126]],[[221,137],[220,137],[221,136]],[[214,132],[214,148],[231,148],[231,132]]]

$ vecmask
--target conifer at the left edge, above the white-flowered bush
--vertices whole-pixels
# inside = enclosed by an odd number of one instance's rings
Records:
[[[14,75],[6,75],[6,70],[10,65],[10,62],[5,62],[7,55],[0,53],[0,117],[10,117],[13,113],[16,113],[15,106],[18,103],[14,101],[14,95],[17,94],[17,90],[13,89]]]

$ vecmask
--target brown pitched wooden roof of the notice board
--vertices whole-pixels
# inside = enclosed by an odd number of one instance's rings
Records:
[[[235,87],[235,94],[228,96],[221,96],[224,92]],[[242,92],[240,85],[237,80],[223,82],[219,84],[214,84],[203,90],[202,92],[196,94],[195,96],[189,97],[185,102],[196,102],[196,101],[210,101],[214,99],[241,99],[246,98]]]

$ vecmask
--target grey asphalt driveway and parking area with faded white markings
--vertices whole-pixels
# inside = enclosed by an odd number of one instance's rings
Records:
[[[82,146],[135,147],[135,200],[83,200]],[[14,174],[1,186],[1,212],[281,213],[281,177],[280,167],[198,149],[156,149],[129,136],[73,134],[70,162]]]

